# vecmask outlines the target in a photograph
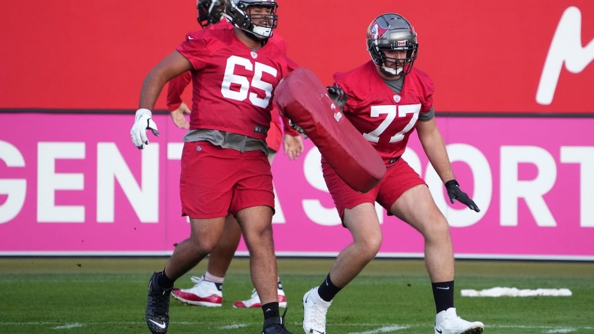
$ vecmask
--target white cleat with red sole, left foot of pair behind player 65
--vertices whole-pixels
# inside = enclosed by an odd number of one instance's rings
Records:
[[[219,283],[204,280],[204,276],[192,276],[192,282],[195,283],[189,289],[174,289],[171,296],[182,303],[220,307],[223,305],[223,285]]]

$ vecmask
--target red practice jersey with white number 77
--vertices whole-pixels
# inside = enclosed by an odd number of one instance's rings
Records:
[[[400,94],[388,87],[372,61],[347,73],[334,74],[334,81],[349,94],[345,116],[371,142],[386,165],[405,152],[419,113],[429,112],[433,105],[433,83],[415,67],[404,78]]]

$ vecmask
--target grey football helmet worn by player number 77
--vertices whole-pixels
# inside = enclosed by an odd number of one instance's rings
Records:
[[[387,13],[376,17],[367,29],[367,51],[371,59],[388,75],[406,75],[412,70],[419,43],[415,29],[402,15]],[[392,58],[384,51],[406,51],[406,58]],[[396,69],[392,64],[397,64]]]

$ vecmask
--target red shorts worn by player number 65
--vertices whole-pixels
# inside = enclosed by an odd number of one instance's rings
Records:
[[[179,194],[182,215],[208,219],[253,206],[274,210],[272,174],[261,150],[244,153],[208,141],[184,143]]]

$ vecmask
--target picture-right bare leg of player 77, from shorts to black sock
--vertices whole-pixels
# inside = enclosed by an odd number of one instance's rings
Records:
[[[454,251],[450,226],[435,205],[426,185],[405,191],[390,212],[421,232],[425,238],[425,266],[431,282],[454,280]]]

